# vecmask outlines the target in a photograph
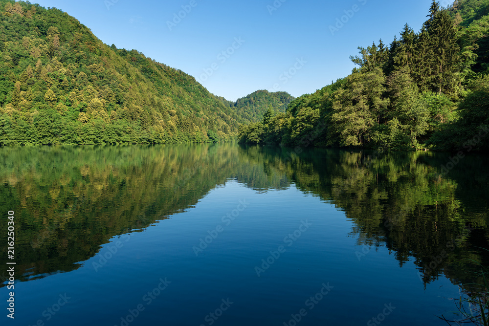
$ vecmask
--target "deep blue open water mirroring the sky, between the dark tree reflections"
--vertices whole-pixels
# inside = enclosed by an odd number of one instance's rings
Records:
[[[456,282],[423,283],[413,257],[361,243],[333,200],[295,182],[278,188],[228,178],[98,243],[70,271],[41,275],[40,258],[37,278],[15,284],[15,321],[2,325],[446,325],[437,316],[456,310]],[[6,287],[0,298],[6,306]]]

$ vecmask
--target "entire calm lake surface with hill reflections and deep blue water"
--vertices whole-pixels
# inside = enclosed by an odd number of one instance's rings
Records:
[[[447,325],[489,266],[489,158],[450,158],[1,148],[2,325]]]

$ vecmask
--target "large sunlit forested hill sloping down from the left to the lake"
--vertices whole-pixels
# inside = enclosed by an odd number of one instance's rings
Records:
[[[243,112],[67,13],[0,0],[0,145],[229,141]]]

